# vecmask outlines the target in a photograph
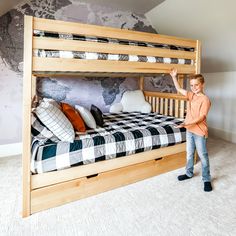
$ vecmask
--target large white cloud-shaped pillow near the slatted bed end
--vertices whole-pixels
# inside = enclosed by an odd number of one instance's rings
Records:
[[[145,101],[141,90],[126,91],[121,99],[123,111],[133,112],[139,111],[143,113],[151,112],[151,105]]]

